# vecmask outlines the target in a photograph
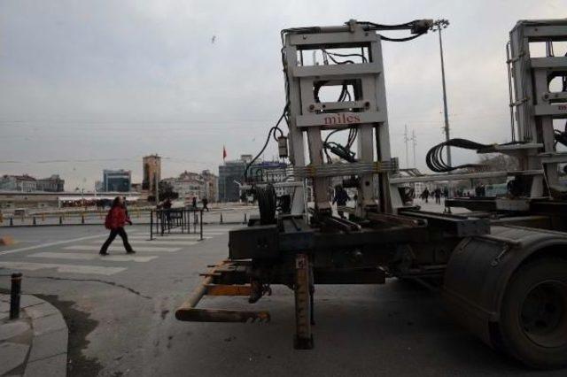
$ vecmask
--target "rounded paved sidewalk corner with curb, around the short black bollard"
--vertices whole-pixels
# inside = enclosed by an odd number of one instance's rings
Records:
[[[65,319],[35,296],[22,295],[20,307],[10,320],[10,296],[0,294],[0,376],[66,376]]]

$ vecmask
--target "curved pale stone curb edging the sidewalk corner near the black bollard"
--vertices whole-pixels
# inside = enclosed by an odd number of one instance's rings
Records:
[[[0,295],[0,301],[9,303],[10,296]],[[22,295],[21,318],[31,322],[33,338],[25,365],[24,377],[64,377],[67,373],[67,344],[69,329],[58,309],[50,303],[32,295]],[[20,364],[20,365],[22,365]]]

